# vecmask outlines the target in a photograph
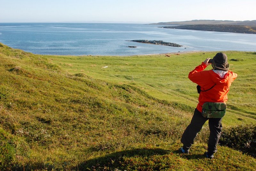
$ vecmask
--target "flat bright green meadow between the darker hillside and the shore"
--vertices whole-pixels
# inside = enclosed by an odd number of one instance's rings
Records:
[[[225,52],[230,69],[238,74],[229,92],[228,115],[224,125],[255,123],[256,119],[256,66],[255,52]],[[205,58],[216,52],[181,53],[152,56],[47,56],[62,70],[84,73],[93,78],[139,87],[148,94],[168,101],[177,101],[194,108],[198,94],[196,84],[188,79],[188,73]],[[231,59],[241,59],[233,61]],[[108,66],[108,68],[102,68]],[[207,69],[211,69],[208,66]],[[133,76],[133,82],[132,82]],[[248,99],[248,100],[247,100]]]

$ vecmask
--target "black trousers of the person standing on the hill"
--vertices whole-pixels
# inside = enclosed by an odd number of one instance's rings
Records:
[[[192,120],[181,137],[181,143],[184,148],[189,149],[194,144],[197,133],[202,129],[206,120],[209,120],[210,136],[208,141],[208,154],[217,152],[217,145],[222,130],[222,118],[204,118],[197,109],[195,109]]]

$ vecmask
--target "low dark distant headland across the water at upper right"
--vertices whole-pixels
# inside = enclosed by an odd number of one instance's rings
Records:
[[[152,23],[152,24],[172,25],[172,26],[164,26],[162,28],[256,34],[256,20],[252,20],[252,21],[191,20],[191,21],[180,21],[180,22],[160,22],[160,23]]]

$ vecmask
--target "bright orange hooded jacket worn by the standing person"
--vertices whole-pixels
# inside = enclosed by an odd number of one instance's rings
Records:
[[[237,74],[228,70],[228,73],[224,78],[214,73],[212,70],[204,71],[207,66],[202,62],[201,65],[196,66],[196,68],[188,74],[189,80],[195,82],[201,86],[201,90],[210,89],[214,84],[216,84],[212,89],[208,91],[201,91],[199,94],[196,108],[198,111],[202,112],[202,106],[205,102],[226,102],[228,100],[228,91]]]

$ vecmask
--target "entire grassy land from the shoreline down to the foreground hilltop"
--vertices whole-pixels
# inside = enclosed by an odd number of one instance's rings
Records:
[[[188,73],[216,52],[50,56],[0,43],[0,170],[255,169],[256,53],[225,53],[238,78],[210,160],[207,123],[190,154],[178,149],[198,97]]]

